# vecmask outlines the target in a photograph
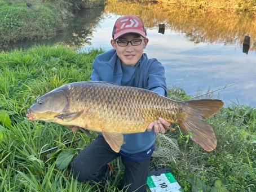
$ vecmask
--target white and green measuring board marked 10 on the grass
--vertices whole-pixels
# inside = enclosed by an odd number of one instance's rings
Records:
[[[171,173],[148,176],[147,184],[152,192],[182,192],[178,182]]]

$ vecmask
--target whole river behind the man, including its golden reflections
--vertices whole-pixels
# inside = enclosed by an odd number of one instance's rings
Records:
[[[110,6],[97,11],[78,12],[76,17],[70,19],[67,30],[54,39],[16,43],[10,47],[26,48],[32,44],[65,42],[78,51],[99,47],[109,50],[112,48],[110,41],[114,22],[118,17],[128,15],[118,8],[118,11],[114,11],[115,8]],[[125,9],[124,7],[123,10]],[[184,11],[178,12],[184,14]],[[200,19],[201,14],[205,14],[202,12],[188,11],[186,15],[178,15],[172,11],[166,16],[166,11],[162,14],[158,11],[157,14],[162,16],[155,14],[154,17],[154,14],[143,14],[138,8],[137,12],[133,10],[129,14],[138,15],[145,21],[149,43],[144,52],[148,57],[157,58],[165,66],[166,81],[170,88],[182,87],[188,95],[194,97],[208,93],[215,99],[224,100],[226,106],[256,106],[255,18],[232,14],[233,25],[246,23],[245,26],[236,28],[225,23],[218,23],[217,26],[215,22],[220,21],[215,20],[219,18],[211,18],[213,16]],[[172,14],[173,17],[170,16]],[[222,17],[230,18],[224,12],[221,14]],[[241,18],[244,21],[240,21]],[[205,20],[205,23],[201,24],[201,20]],[[164,33],[158,31],[158,24],[165,24]],[[243,52],[242,47],[245,35],[251,37],[248,53]],[[213,93],[209,93],[212,91]]]

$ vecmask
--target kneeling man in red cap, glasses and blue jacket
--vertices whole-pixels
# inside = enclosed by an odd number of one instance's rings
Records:
[[[133,15],[120,17],[114,24],[112,36],[113,50],[96,57],[91,80],[145,88],[167,96],[164,66],[143,53],[149,40],[142,20]],[[114,152],[99,134],[74,159],[73,176],[81,182],[103,181],[111,171],[109,163],[121,156],[125,166],[121,189],[127,186],[127,191],[144,192],[156,133],[165,133],[164,126],[170,123],[159,118],[149,124],[144,133],[124,135],[125,144],[119,153]]]

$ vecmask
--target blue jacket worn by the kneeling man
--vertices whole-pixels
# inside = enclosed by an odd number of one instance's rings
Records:
[[[165,69],[156,59],[148,59],[144,53],[135,66],[121,63],[116,50],[97,56],[92,64],[92,81],[105,81],[125,86],[139,87],[167,96]],[[124,135],[121,152],[135,154],[151,149],[155,142],[154,131]]]

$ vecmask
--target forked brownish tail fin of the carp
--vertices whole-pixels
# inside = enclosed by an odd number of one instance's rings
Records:
[[[211,151],[216,148],[217,139],[213,128],[204,121],[217,113],[224,102],[221,100],[190,100],[183,102],[185,114],[180,114],[178,117],[179,127],[186,133],[192,132],[192,140],[201,145],[206,151]]]

